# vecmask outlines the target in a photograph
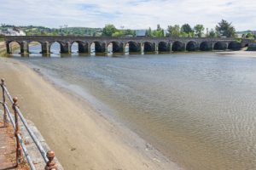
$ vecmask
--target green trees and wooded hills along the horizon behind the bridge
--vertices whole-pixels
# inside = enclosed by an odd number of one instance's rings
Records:
[[[0,26],[0,31],[5,31],[8,28],[14,26],[4,25]],[[44,26],[19,26],[20,29],[26,32],[27,36],[93,36],[93,37],[135,37],[136,30],[116,28],[112,24],[108,24],[103,28],[87,28],[87,27],[67,27],[60,26],[60,28],[48,28]],[[255,31],[256,32],[256,31]],[[253,31],[238,31],[232,23],[227,20],[221,20],[213,29],[205,28],[201,24],[195,26],[189,26],[189,24],[183,24],[183,26],[174,25],[162,28],[157,25],[156,29],[148,28],[145,31],[146,37],[237,37],[241,35],[241,38],[255,38],[255,32]],[[1,37],[0,37],[1,41]]]

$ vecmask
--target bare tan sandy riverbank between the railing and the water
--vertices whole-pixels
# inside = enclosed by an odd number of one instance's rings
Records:
[[[25,64],[0,59],[1,77],[66,169],[180,169],[128,128],[56,88]]]

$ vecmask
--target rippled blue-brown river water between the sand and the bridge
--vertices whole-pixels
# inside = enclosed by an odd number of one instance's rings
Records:
[[[95,96],[114,110],[111,116],[181,167],[256,169],[256,58],[31,56],[17,59]]]

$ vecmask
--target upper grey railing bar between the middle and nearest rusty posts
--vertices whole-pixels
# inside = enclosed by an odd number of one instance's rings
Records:
[[[48,160],[48,158],[47,158],[47,156],[46,156],[46,152],[44,151],[43,146],[42,146],[41,143],[38,141],[38,139],[36,138],[36,136],[35,136],[35,134],[32,132],[32,130],[28,127],[28,124],[27,124],[27,122],[26,122],[24,116],[22,116],[22,114],[21,114],[19,108],[18,108],[17,106],[15,106],[15,109],[16,109],[16,111],[18,112],[18,115],[20,116],[21,122],[23,122],[24,126],[26,127],[27,132],[30,134],[32,140],[33,140],[34,143],[37,145],[38,150],[40,151],[41,155],[42,155],[43,158],[44,158],[44,161],[47,163],[47,161],[49,161],[49,160]]]

